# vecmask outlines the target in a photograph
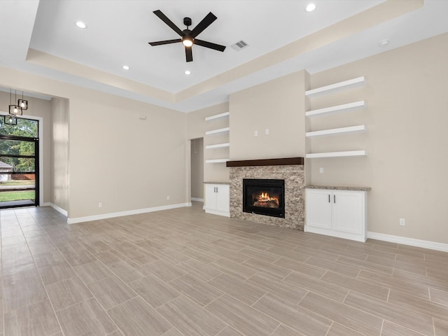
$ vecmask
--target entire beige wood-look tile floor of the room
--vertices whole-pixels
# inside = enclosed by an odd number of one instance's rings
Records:
[[[0,211],[0,335],[447,336],[448,253],[191,208]]]

